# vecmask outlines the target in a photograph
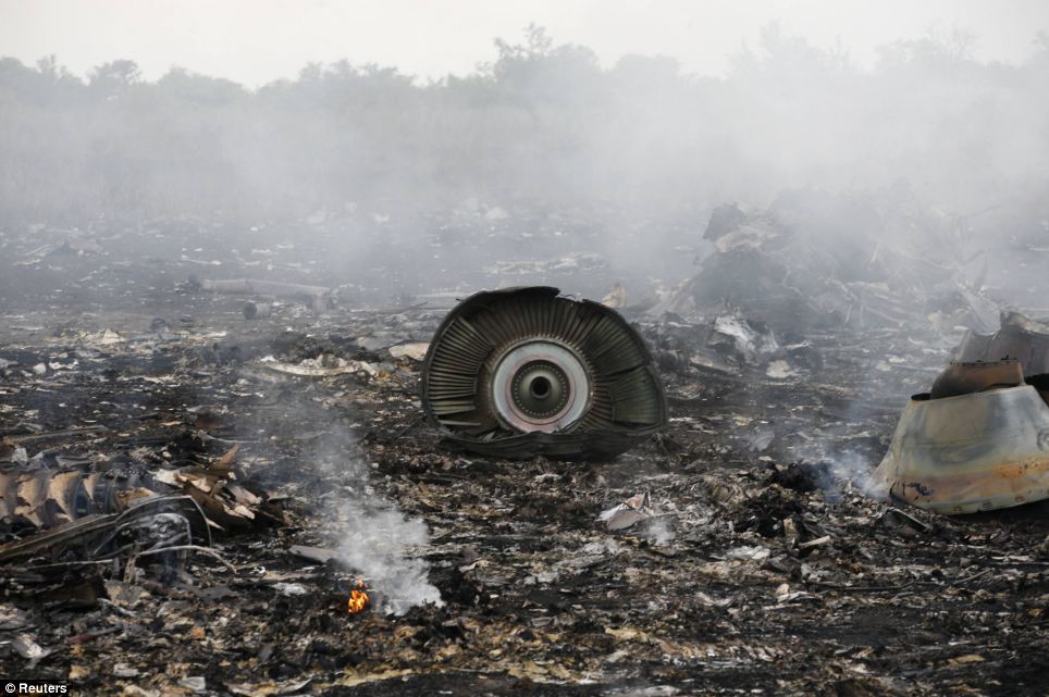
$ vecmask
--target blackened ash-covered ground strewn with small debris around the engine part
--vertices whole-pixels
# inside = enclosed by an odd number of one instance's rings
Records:
[[[232,570],[193,555],[174,578],[65,578],[95,583],[86,596],[0,569],[8,676],[124,695],[1045,690],[1041,511],[948,519],[864,495],[899,410],[958,336],[799,337],[780,378],[667,370],[669,428],[616,460],[492,460],[440,443],[420,363],[387,348],[429,340],[451,300],[361,293],[248,322],[243,300],[177,284],[264,269],[102,246],[16,266],[32,245],[5,240],[20,253],[0,283],[3,435],[33,435],[30,457],[146,470],[239,444],[238,477],[284,497],[284,519],[217,535]],[[323,275],[296,273],[270,272]],[[655,347],[687,341],[686,325],[625,314]],[[300,377],[262,360],[325,354],[373,370]],[[618,532],[598,520],[643,493],[651,518]],[[424,523],[428,543],[399,539],[398,521]],[[393,599],[373,582],[372,608],[349,614],[361,570],[289,552],[356,544],[393,550],[406,573],[424,564],[441,605],[384,612]],[[17,635],[47,655],[24,657]]]

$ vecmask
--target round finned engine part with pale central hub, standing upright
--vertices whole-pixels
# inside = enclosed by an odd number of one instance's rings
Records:
[[[644,341],[614,310],[557,288],[479,293],[437,328],[422,368],[427,416],[474,452],[606,458],[664,428]]]

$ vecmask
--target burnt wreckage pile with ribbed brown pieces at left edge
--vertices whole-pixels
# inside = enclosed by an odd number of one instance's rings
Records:
[[[193,552],[222,561],[213,535],[285,522],[268,491],[243,475],[237,481],[238,445],[175,469],[55,450],[27,459],[22,440],[0,441],[0,532],[15,538],[0,544],[0,586],[9,595],[61,587],[94,598],[103,580],[133,577],[139,560],[159,563],[155,570],[170,580]]]

